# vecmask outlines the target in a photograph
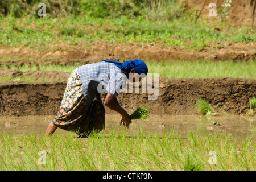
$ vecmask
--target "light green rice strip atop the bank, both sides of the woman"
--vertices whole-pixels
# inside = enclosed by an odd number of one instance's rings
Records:
[[[4,58],[1,58],[1,60]],[[10,59],[10,58],[8,58]],[[12,59],[10,59],[12,60]],[[32,62],[32,60],[31,60]],[[251,78],[256,79],[254,68],[256,67],[255,60],[249,61],[208,61],[208,60],[168,60],[156,61],[145,60],[148,65],[148,73],[159,73],[159,77],[167,78]],[[3,69],[18,69],[22,72],[28,70],[43,70],[43,71],[59,71],[71,73],[80,64],[1,64]],[[202,72],[204,70],[204,72]]]

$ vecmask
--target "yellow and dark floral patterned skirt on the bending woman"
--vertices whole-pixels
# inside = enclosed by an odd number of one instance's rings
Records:
[[[60,110],[52,122],[61,129],[73,131],[79,135],[87,135],[92,130],[101,131],[105,127],[105,108],[100,94],[91,104],[85,101],[78,68],[68,78]]]

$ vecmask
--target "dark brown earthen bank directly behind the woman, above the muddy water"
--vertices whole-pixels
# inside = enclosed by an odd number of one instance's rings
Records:
[[[59,110],[66,82],[0,83],[0,115],[55,115]],[[148,94],[119,94],[120,104],[131,113],[147,106],[152,114],[197,114],[195,103],[203,98],[218,112],[246,114],[249,98],[256,93],[256,80],[238,78],[172,79],[159,78],[159,97]],[[104,94],[102,94],[104,100]],[[106,108],[106,113],[115,113]]]

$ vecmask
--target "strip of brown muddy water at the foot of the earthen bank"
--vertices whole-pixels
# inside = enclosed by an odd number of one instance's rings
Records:
[[[54,116],[26,116],[26,117],[0,117],[0,132],[6,133],[39,133],[43,134],[49,122]],[[108,133],[111,129],[121,130],[119,126],[120,115],[106,115],[106,129]],[[129,127],[130,134],[136,134],[137,128],[154,133],[164,131],[188,134],[189,131],[200,131],[201,133],[224,133],[232,134],[236,137],[256,135],[256,117],[224,115],[205,117],[200,115],[151,115],[148,121],[133,121]],[[67,133],[67,131],[57,129],[56,133]]]

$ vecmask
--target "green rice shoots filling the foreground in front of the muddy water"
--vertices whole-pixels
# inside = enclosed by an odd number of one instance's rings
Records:
[[[93,133],[89,139],[72,133],[0,134],[1,170],[255,170],[254,138],[191,133],[188,136],[147,133],[138,129]],[[46,164],[40,165],[40,151]],[[215,151],[217,164],[209,164]]]

